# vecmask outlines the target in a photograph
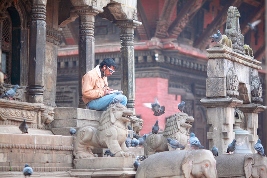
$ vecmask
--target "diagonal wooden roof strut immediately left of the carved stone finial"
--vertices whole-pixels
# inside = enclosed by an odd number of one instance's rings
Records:
[[[223,26],[227,19],[227,12],[230,6],[239,7],[243,0],[230,0],[216,16],[216,18],[211,22],[208,28],[195,40],[193,46],[201,50],[205,49],[210,43],[211,39],[209,36],[213,35],[217,30]]]

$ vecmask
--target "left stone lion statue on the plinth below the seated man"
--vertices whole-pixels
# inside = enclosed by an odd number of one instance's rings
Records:
[[[115,156],[134,157],[125,145],[127,125],[133,111],[122,104],[112,104],[101,115],[99,127],[83,126],[77,132],[74,145],[75,159],[95,157],[92,149],[108,148]]]

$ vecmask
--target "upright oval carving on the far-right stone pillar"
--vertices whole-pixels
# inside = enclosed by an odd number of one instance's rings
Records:
[[[252,95],[253,103],[261,104],[263,102],[263,99],[262,99],[263,87],[262,87],[262,83],[260,82],[259,76],[253,76],[252,78],[251,95]]]

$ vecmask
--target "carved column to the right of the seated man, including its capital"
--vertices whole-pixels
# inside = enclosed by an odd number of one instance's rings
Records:
[[[117,21],[121,29],[121,86],[123,94],[128,98],[127,108],[135,114],[135,71],[134,71],[134,29],[142,23],[136,20]]]

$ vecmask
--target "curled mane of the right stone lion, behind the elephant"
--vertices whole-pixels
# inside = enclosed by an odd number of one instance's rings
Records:
[[[170,135],[173,135],[175,133],[178,133],[179,128],[178,125],[180,125],[181,117],[179,113],[175,113],[172,116],[170,116],[169,118],[167,118],[166,124],[165,124],[165,128],[163,131],[163,136],[165,137],[169,137]]]

